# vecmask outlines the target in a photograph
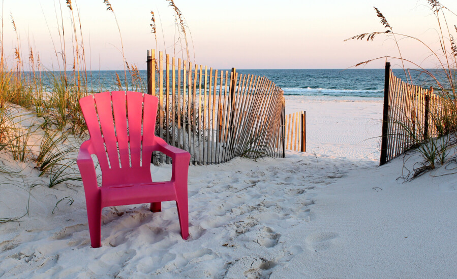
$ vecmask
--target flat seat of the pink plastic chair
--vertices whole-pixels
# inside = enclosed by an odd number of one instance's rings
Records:
[[[152,182],[100,187],[102,207],[176,200],[174,182]]]

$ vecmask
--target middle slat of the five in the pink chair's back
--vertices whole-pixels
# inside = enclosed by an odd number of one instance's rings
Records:
[[[129,135],[127,134],[126,92],[111,92],[113,100],[114,123],[116,126],[117,145],[119,146],[120,165],[130,167]]]

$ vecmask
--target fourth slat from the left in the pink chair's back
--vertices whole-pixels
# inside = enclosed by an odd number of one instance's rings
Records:
[[[140,167],[141,128],[143,118],[143,94],[127,92],[127,113],[129,125],[130,161],[132,167]],[[150,164],[150,158],[149,158]]]

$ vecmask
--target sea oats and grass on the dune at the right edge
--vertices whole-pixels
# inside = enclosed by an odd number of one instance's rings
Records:
[[[411,71],[418,71],[420,75],[426,75],[433,81],[432,88],[435,89],[435,94],[440,97],[441,106],[431,106],[429,113],[432,123],[430,125],[438,131],[438,134],[433,136],[431,133],[425,133],[424,127],[411,127],[411,119],[406,119],[406,122],[404,120],[394,121],[395,124],[401,126],[407,135],[412,138],[410,148],[416,148],[423,159],[423,162],[416,164],[414,169],[408,174],[407,177],[412,178],[419,176],[426,170],[435,169],[437,165],[444,165],[446,162],[457,158],[455,154],[448,152],[455,145],[455,141],[452,139],[455,138],[457,132],[457,45],[454,41],[454,36],[457,36],[457,27],[450,23],[450,18],[452,17],[455,20],[457,15],[437,0],[429,0],[428,7],[436,19],[436,26],[431,27],[435,28],[439,35],[440,47],[438,49],[434,49],[434,46],[424,42],[420,38],[395,32],[386,17],[376,7],[374,8],[376,15],[385,30],[361,33],[345,40],[365,39],[367,41],[373,41],[378,36],[388,37],[394,41],[395,47],[398,49],[398,56],[382,56],[357,63],[355,66],[364,65],[378,59],[397,60],[403,67],[404,77],[407,83],[414,83],[410,75]],[[402,52],[399,45],[399,41],[401,40],[410,40],[416,43],[418,48],[430,53],[425,60],[431,60],[438,66],[431,71],[421,66],[424,61],[415,62],[405,58],[406,55]],[[412,65],[414,68],[407,68],[406,64]],[[390,136],[402,137],[400,134],[392,134]]]

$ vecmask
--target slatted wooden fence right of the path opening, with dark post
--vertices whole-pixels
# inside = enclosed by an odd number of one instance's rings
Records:
[[[420,140],[441,135],[436,121],[443,99],[433,90],[403,82],[386,62],[380,165],[416,146]]]

